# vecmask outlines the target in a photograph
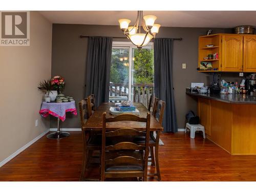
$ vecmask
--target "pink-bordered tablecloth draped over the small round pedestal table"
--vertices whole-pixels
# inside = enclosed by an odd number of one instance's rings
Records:
[[[71,112],[74,115],[77,115],[75,101],[71,102],[61,102],[61,103],[47,103],[42,102],[41,110],[39,114],[42,117],[47,117],[49,114],[58,117],[61,121],[65,121],[66,112]]]

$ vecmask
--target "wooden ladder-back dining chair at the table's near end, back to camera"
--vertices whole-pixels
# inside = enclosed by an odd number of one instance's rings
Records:
[[[150,113],[146,118],[134,114],[121,114],[106,119],[102,118],[102,149],[101,149],[101,180],[106,178],[143,178],[147,180],[147,161],[150,137]],[[120,128],[114,131],[106,130],[106,123],[117,121],[146,122],[145,130],[138,131],[132,128]],[[127,122],[128,123],[128,122]],[[136,136],[145,137],[143,144],[134,143]],[[112,140],[111,145],[106,139]]]

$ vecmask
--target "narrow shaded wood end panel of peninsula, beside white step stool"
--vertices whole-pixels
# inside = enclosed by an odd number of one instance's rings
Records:
[[[198,98],[197,115],[200,117],[200,124],[204,126],[205,133],[211,135],[210,129],[210,99]]]

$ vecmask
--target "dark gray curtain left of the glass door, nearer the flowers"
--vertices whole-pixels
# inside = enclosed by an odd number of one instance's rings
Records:
[[[96,106],[109,102],[112,37],[89,37],[86,97],[94,94]]]

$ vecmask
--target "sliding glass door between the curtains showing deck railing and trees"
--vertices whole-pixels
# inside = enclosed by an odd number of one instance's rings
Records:
[[[110,102],[132,100],[147,104],[154,94],[153,44],[138,50],[131,42],[113,42]]]

